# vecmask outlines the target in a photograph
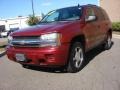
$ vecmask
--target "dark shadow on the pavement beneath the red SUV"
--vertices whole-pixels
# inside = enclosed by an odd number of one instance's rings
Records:
[[[114,42],[112,42],[111,47],[114,45]],[[90,61],[92,61],[97,55],[99,55],[100,53],[102,53],[103,51],[105,51],[103,49],[102,46],[96,47],[94,49],[92,49],[91,51],[87,52],[85,54],[85,62],[81,68],[84,69]],[[66,70],[64,70],[64,67],[59,67],[59,68],[48,68],[48,67],[39,67],[39,66],[29,66],[26,67],[27,69],[31,69],[31,70],[36,70],[36,71],[41,71],[41,72],[48,72],[48,73],[67,73]]]

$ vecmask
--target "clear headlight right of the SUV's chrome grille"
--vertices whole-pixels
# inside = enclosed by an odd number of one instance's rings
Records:
[[[59,46],[61,35],[59,33],[50,33],[40,36],[40,46]]]

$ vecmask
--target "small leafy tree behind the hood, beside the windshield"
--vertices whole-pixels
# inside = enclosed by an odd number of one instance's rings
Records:
[[[33,26],[36,25],[40,21],[40,18],[34,15],[29,15],[29,18],[27,20],[28,25]]]

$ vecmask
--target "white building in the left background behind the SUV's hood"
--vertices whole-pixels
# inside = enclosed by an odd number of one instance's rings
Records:
[[[0,20],[0,31],[9,31],[11,29],[22,29],[28,27],[26,21],[28,17],[17,17]]]

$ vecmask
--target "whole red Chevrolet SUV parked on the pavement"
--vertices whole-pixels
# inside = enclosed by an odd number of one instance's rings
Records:
[[[41,22],[9,37],[7,56],[23,66],[65,66],[78,72],[85,53],[98,45],[111,47],[111,22],[96,5],[67,7],[49,12]]]

